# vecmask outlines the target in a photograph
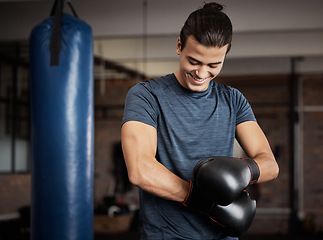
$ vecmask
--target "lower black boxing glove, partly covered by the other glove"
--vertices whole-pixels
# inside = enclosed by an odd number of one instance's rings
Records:
[[[246,191],[227,206],[215,204],[207,195],[190,182],[190,191],[182,202],[184,206],[207,215],[229,236],[238,237],[245,233],[255,216],[256,201]]]

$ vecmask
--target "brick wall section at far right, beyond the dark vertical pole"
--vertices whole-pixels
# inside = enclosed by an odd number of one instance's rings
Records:
[[[304,76],[303,199],[304,217],[315,231],[323,232],[323,76]]]

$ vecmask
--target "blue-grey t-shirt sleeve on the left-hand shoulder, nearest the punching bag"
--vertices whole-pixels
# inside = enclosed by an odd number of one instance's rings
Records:
[[[126,97],[122,124],[138,121],[157,128],[158,105],[154,95],[144,83],[133,86]]]

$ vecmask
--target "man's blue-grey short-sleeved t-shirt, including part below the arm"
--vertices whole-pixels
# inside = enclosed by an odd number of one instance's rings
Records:
[[[123,123],[127,121],[155,127],[156,159],[190,180],[199,160],[232,156],[235,127],[256,119],[237,89],[211,81],[207,90],[194,92],[169,74],[129,90]],[[208,217],[177,202],[140,190],[140,204],[141,239],[235,239],[226,238]]]

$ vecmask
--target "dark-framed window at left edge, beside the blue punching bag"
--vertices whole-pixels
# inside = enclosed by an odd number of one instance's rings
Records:
[[[28,45],[0,43],[0,173],[29,171]]]

